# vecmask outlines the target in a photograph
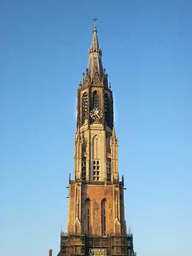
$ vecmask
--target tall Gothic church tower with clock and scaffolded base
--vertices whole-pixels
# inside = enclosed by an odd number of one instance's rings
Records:
[[[74,180],[69,178],[67,233],[61,232],[60,256],[136,255],[132,234],[126,233],[113,92],[97,33],[94,20],[88,67],[77,90]]]

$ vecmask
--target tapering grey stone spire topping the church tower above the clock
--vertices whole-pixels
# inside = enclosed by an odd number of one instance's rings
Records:
[[[91,42],[90,49],[88,49],[88,75],[90,75],[90,78],[93,79],[96,72],[98,72],[98,75],[100,78],[102,78],[103,75],[103,67],[102,67],[102,51],[101,48],[99,48],[99,42],[98,42],[98,30],[96,28],[96,19],[94,20],[94,26],[93,26],[93,39]]]

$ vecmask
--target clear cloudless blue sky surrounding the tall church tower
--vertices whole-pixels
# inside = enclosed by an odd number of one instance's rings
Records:
[[[0,0],[1,255],[59,251],[95,14],[135,251],[191,256],[191,13],[190,0]]]

